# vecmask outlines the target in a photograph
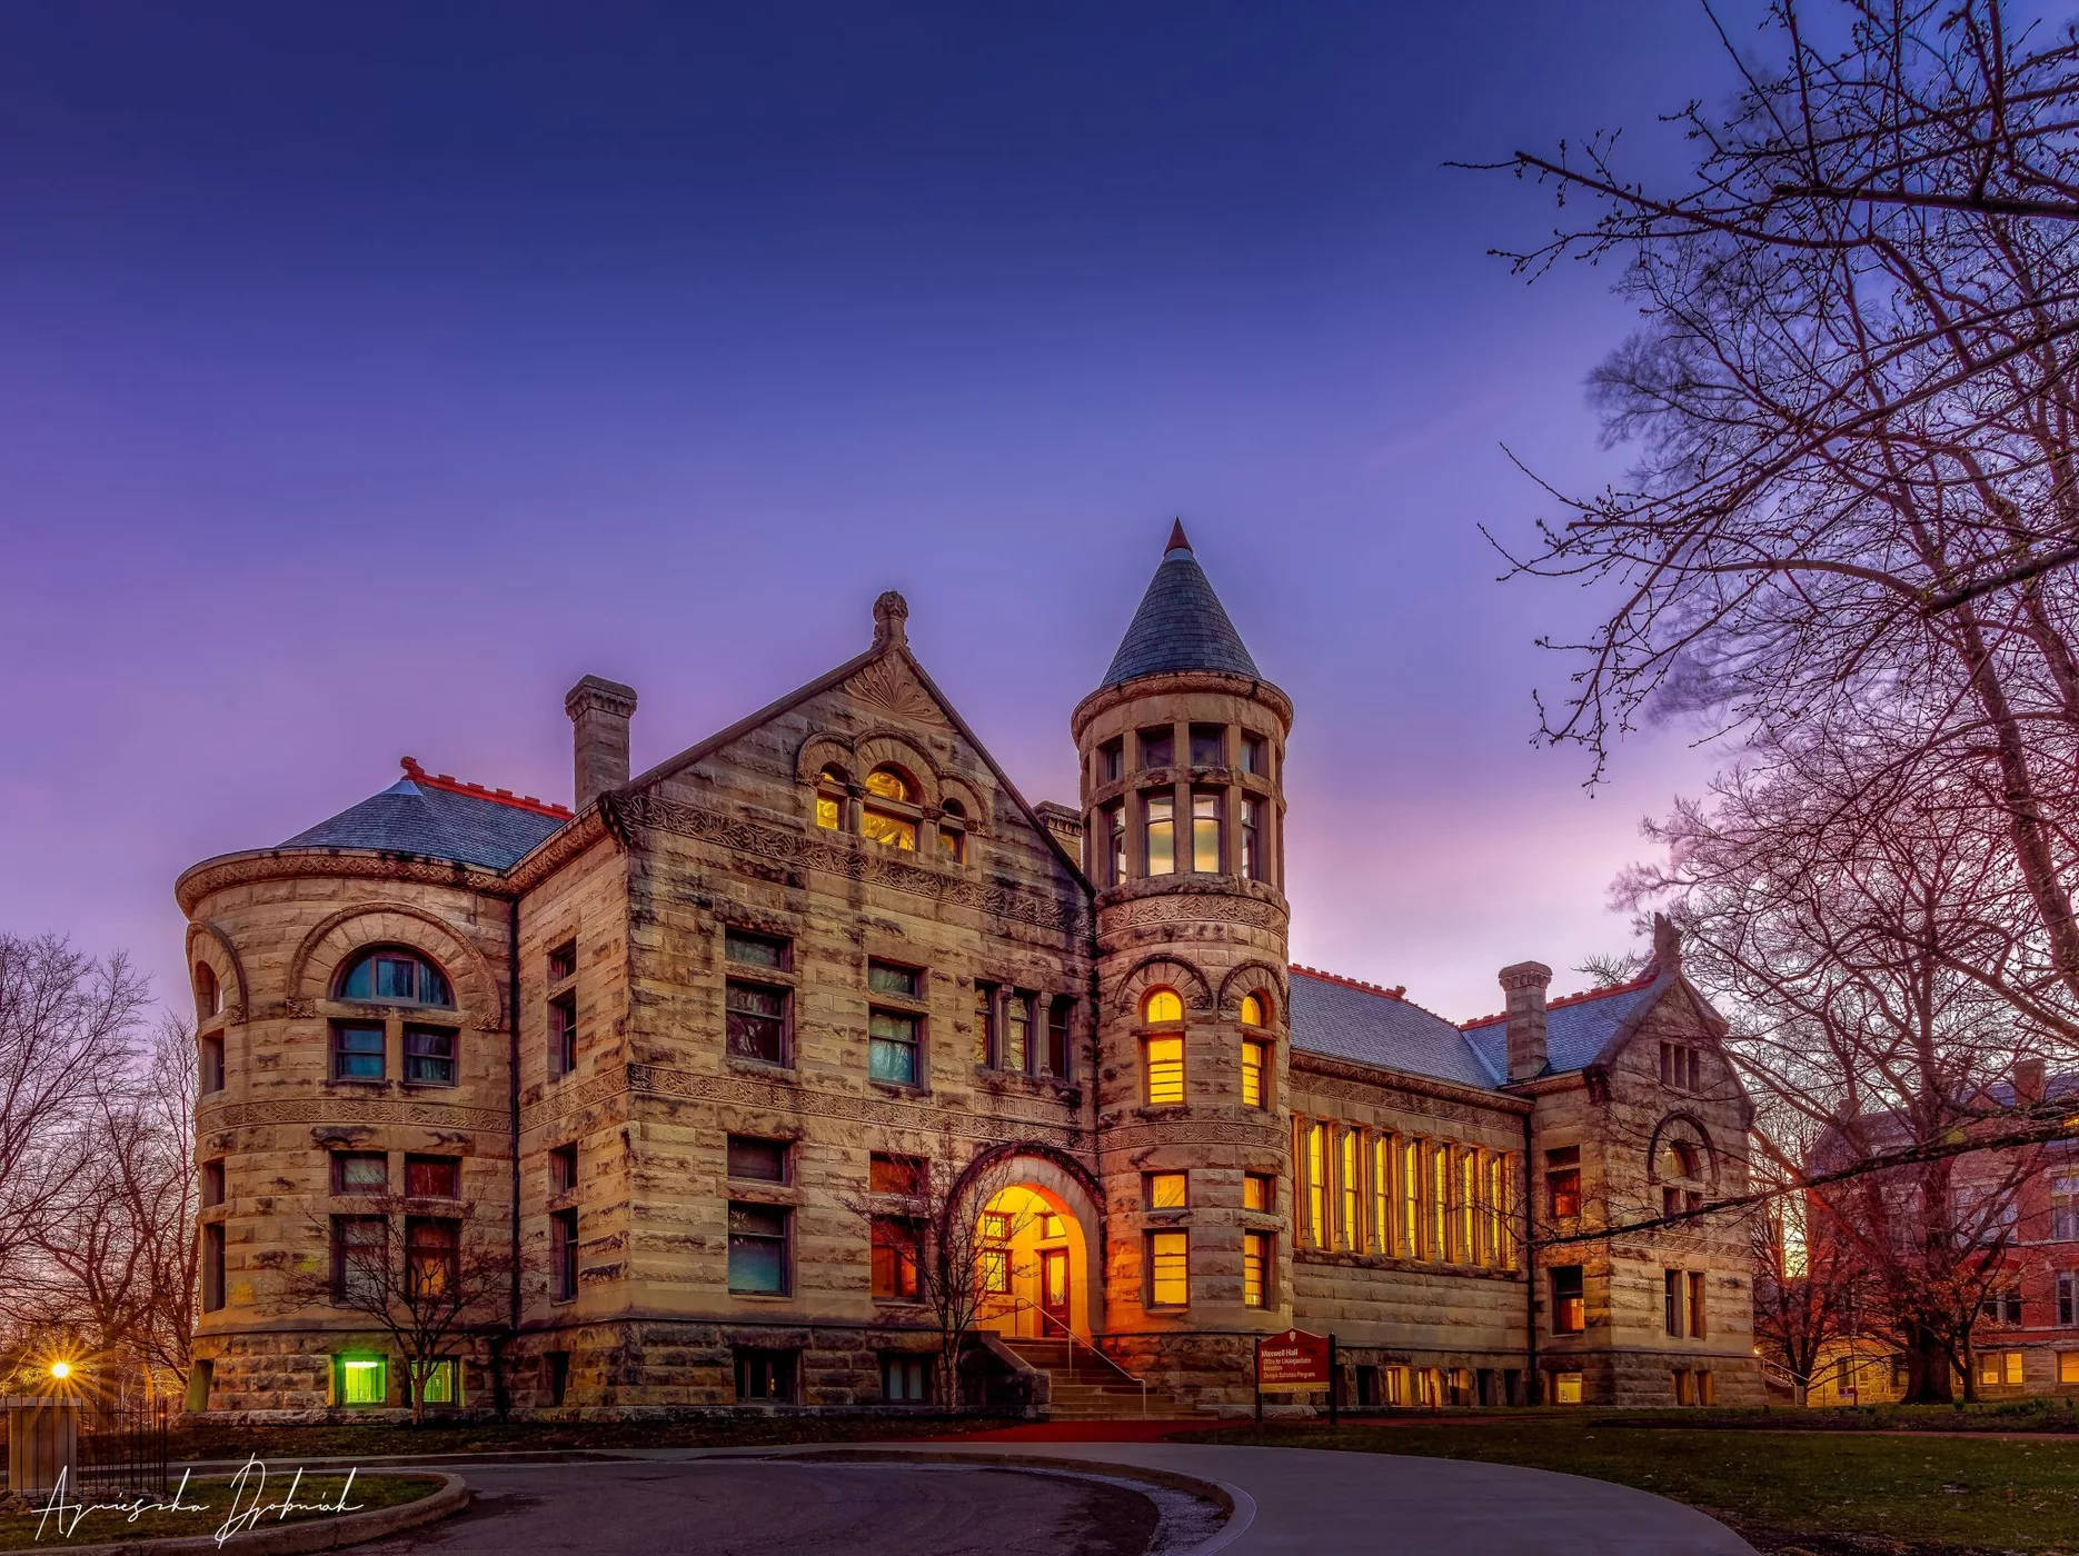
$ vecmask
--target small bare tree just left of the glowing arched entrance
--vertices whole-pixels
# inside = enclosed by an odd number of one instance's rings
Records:
[[[1017,1184],[1008,1163],[973,1170],[952,1130],[942,1130],[917,1155],[888,1155],[865,1195],[844,1197],[865,1217],[873,1242],[875,1282],[886,1294],[917,1303],[938,1338],[938,1396],[958,1409],[960,1359],[977,1321],[1012,1305],[1019,1271],[1017,1236],[1033,1209],[992,1209]]]

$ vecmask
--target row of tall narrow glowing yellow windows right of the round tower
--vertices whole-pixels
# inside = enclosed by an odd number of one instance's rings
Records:
[[[1293,1242],[1518,1267],[1516,1161],[1457,1141],[1293,1120]]]

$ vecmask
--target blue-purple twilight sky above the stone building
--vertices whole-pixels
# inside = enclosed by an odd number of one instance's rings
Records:
[[[185,1003],[173,879],[401,754],[570,798],[865,646],[1029,800],[1181,513],[1291,692],[1293,958],[1466,1018],[1628,943],[1476,526],[1580,486],[1607,274],[1447,158],[1726,91],[1694,4],[23,0],[0,17],[0,929]],[[1655,139],[1661,135],[1663,139]]]

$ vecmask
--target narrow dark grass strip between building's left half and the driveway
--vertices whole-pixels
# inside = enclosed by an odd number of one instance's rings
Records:
[[[1008,1421],[933,1415],[713,1415],[678,1421],[341,1421],[326,1425],[195,1425],[170,1436],[187,1458],[380,1458],[387,1454],[507,1454],[586,1448],[755,1448],[792,1442],[888,1442],[981,1431]]]

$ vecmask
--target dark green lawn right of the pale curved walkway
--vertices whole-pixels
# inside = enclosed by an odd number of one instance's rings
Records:
[[[1590,1475],[1703,1508],[1765,1552],[2079,1552],[2079,1442],[1696,1431],[1593,1417],[1272,1425],[1189,1440],[1482,1458]]]

